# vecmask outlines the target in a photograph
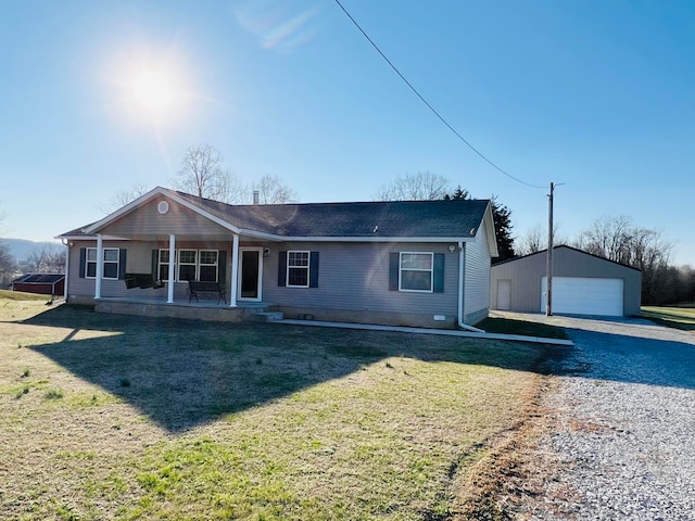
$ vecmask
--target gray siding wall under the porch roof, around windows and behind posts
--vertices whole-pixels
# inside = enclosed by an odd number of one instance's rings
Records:
[[[125,249],[126,254],[126,272],[149,274],[152,270],[152,250],[157,247],[168,249],[168,239],[160,241],[159,244],[152,241],[103,241],[104,247]],[[97,241],[74,241],[74,245],[70,249],[70,276],[68,276],[68,298],[73,296],[93,297],[96,279],[80,278],[79,274],[79,251],[83,247],[97,247]],[[220,241],[177,241],[177,250],[218,250],[227,252],[226,281],[229,288],[230,280],[230,258],[231,258],[231,240],[229,242]],[[188,283],[175,282],[174,298],[188,300]],[[229,293],[229,292],[228,292]],[[167,289],[141,289],[132,288],[128,290],[123,280],[102,279],[101,296],[102,297],[126,297],[126,296],[159,296],[166,298]]]

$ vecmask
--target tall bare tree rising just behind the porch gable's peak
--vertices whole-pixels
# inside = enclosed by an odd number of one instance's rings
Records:
[[[233,204],[248,200],[244,183],[229,170],[223,169],[222,154],[207,143],[188,148],[174,186],[199,198],[223,203]]]

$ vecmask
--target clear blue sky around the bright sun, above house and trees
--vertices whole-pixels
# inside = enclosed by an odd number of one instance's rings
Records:
[[[332,0],[0,0],[5,237],[49,240],[136,183],[172,186],[206,142],[247,181],[301,202],[368,201],[432,171],[497,195],[514,231],[601,216],[662,230],[695,264],[695,3],[342,0],[439,122]],[[153,112],[142,71],[169,81]]]

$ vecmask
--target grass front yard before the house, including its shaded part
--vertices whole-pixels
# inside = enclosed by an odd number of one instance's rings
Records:
[[[0,518],[467,519],[542,355],[0,298]]]

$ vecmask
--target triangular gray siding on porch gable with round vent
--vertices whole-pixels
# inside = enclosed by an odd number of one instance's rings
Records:
[[[160,214],[156,205],[163,200],[164,198],[157,198],[142,205],[137,211],[110,224],[100,232],[123,237],[162,236],[161,239],[166,240],[169,233],[231,238],[229,230],[174,201],[168,200],[169,211],[164,215]]]

